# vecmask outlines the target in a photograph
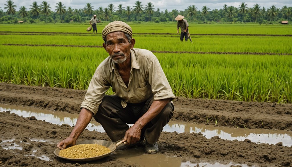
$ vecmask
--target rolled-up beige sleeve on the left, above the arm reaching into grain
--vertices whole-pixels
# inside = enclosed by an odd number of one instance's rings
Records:
[[[105,77],[104,71],[98,67],[89,83],[84,101],[81,103],[80,108],[86,108],[95,115],[109,87],[110,85]]]

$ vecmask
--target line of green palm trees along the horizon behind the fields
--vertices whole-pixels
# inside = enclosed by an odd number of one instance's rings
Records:
[[[222,9],[211,10],[207,6],[198,9],[195,5],[188,6],[184,11],[172,9],[164,11],[154,8],[151,2],[142,4],[136,1],[134,6],[115,6],[109,4],[107,8],[94,8],[91,3],[87,3],[84,8],[73,9],[67,8],[62,2],[55,4],[55,11],[51,9],[51,4],[43,1],[38,4],[32,2],[29,9],[17,6],[12,0],[6,1],[4,9],[0,8],[0,23],[17,23],[24,21],[25,23],[63,23],[63,22],[88,22],[95,14],[100,21],[131,21],[131,22],[174,22],[174,18],[180,14],[186,17],[188,22],[195,23],[213,23],[213,22],[233,22],[233,23],[277,23],[282,20],[291,21],[292,7],[283,6],[277,8],[272,5],[270,8],[261,7],[255,4],[248,7],[242,2],[238,7],[227,6]]]

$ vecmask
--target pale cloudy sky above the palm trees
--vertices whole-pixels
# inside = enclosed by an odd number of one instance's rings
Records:
[[[0,9],[6,11],[4,9],[7,0],[0,0]],[[36,1],[38,5],[41,4],[44,0],[12,0],[14,4],[17,6],[15,9],[19,11],[21,6],[25,6],[27,10],[29,10],[30,5],[32,2]],[[113,4],[114,7],[117,7],[119,4],[122,4],[123,7],[126,6],[133,7],[135,5],[135,1],[137,0],[126,0],[126,1],[119,1],[119,0],[46,0],[48,4],[50,4],[51,10],[55,11],[56,3],[61,1],[66,8],[71,6],[73,9],[81,9],[86,6],[86,3],[91,3],[93,9],[96,10],[99,7],[106,8],[109,4]],[[190,5],[195,5],[197,10],[201,10],[203,6],[207,6],[211,10],[213,9],[222,9],[223,5],[226,4],[227,6],[234,6],[239,7],[239,5],[244,2],[247,4],[248,8],[252,8],[254,4],[259,4],[262,8],[270,8],[272,5],[275,5],[277,8],[282,8],[283,6],[291,6],[292,7],[292,0],[246,0],[246,1],[236,1],[236,0],[139,0],[142,2],[143,7],[147,5],[148,2],[151,2],[154,5],[155,11],[157,8],[160,11],[164,11],[167,9],[168,11],[172,11],[173,9],[185,10]],[[116,8],[117,9],[117,8]]]

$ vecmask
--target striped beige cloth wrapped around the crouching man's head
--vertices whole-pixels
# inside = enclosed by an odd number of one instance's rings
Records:
[[[107,36],[107,34],[116,31],[124,32],[131,35],[131,37],[133,36],[132,28],[127,23],[122,21],[114,21],[106,25],[102,30],[102,39],[105,40],[105,36]]]

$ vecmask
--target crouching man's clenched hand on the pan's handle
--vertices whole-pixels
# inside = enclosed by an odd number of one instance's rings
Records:
[[[127,144],[135,144],[140,140],[142,127],[135,123],[128,131],[126,131],[123,142]]]

